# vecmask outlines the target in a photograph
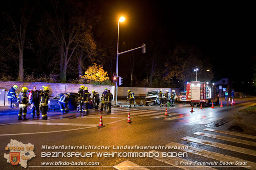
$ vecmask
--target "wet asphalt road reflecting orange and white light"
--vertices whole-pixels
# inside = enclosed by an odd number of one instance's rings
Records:
[[[77,112],[70,112],[62,115],[60,112],[48,112],[49,120],[40,121],[38,118],[31,119],[31,114],[28,112],[27,118],[29,121],[18,121],[17,115],[3,115],[0,116],[0,164],[3,169],[23,169],[20,165],[11,165],[6,162],[3,157],[5,147],[10,143],[11,139],[15,139],[24,144],[31,143],[35,146],[36,157],[28,161],[26,169],[114,169],[113,166],[123,161],[131,161],[137,165],[144,166],[151,170],[158,169],[180,169],[167,163],[158,161],[154,158],[127,158],[127,157],[109,157],[98,158],[42,158],[42,152],[148,152],[152,149],[114,149],[113,146],[166,146],[171,142],[184,144],[199,149],[204,149],[211,152],[216,152],[223,155],[240,158],[246,161],[256,163],[256,156],[253,154],[245,154],[232,149],[220,149],[218,147],[208,146],[206,144],[198,144],[181,140],[183,137],[194,137],[197,139],[209,140],[211,142],[218,142],[229,146],[235,146],[244,149],[256,151],[256,146],[247,144],[240,144],[237,142],[219,140],[204,136],[195,135],[196,132],[211,133],[213,135],[222,135],[224,137],[233,137],[246,141],[256,142],[256,139],[247,137],[240,137],[228,135],[223,133],[209,132],[205,128],[212,128],[217,130],[224,130],[229,132],[254,135],[256,131],[251,129],[234,118],[235,112],[255,103],[255,98],[237,100],[235,106],[227,106],[223,102],[224,107],[215,106],[214,109],[207,107],[204,109],[194,108],[191,113],[191,107],[185,103],[175,104],[175,107],[168,108],[168,114],[171,116],[159,117],[164,115],[166,107],[137,107],[131,109],[113,108],[112,114],[102,113],[104,128],[98,128],[100,121],[100,113],[90,111],[89,116],[79,116]],[[126,123],[128,112],[131,113],[132,123]],[[147,116],[147,114],[150,114]],[[171,120],[172,119],[172,120]],[[242,128],[243,132],[228,130],[231,126]],[[43,145],[48,146],[110,146],[109,149],[42,149]],[[156,149],[160,152],[179,152],[177,149]],[[187,157],[181,157],[187,161],[198,162],[219,162],[214,158],[206,158],[204,156],[197,156],[188,154]],[[43,166],[42,162],[56,162],[56,161],[73,161],[73,162],[99,162],[97,166]],[[254,164],[253,164],[254,165]],[[219,170],[240,170],[242,167],[212,167]],[[2,169],[1,168],[1,169]],[[125,167],[122,167],[125,168]],[[128,167],[126,167],[128,168]],[[130,167],[131,168],[131,167]],[[139,168],[139,167],[132,167]],[[191,167],[183,167],[191,168]],[[247,167],[248,168],[248,167]],[[197,167],[197,169],[201,169]]]

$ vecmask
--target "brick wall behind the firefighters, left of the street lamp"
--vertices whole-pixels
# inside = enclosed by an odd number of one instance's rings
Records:
[[[50,95],[55,96],[59,93],[65,92],[74,92],[77,93],[78,88],[81,85],[88,87],[89,92],[92,90],[102,93],[104,88],[113,89],[114,86],[94,86],[92,84],[71,84],[71,83],[43,83],[43,82],[15,82],[15,81],[0,81],[0,88],[4,88],[5,91],[8,91],[13,85],[17,85],[16,93],[21,91],[22,87],[27,87],[28,89],[33,89],[33,86],[36,86],[37,90],[41,89],[42,86],[48,86]],[[114,90],[111,90],[111,93],[114,95]]]

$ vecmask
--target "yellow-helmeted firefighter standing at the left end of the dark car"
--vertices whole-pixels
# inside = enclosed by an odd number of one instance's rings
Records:
[[[41,102],[39,104],[39,107],[42,112],[42,120],[47,120],[49,93],[50,93],[50,91],[47,86],[45,86],[43,91],[40,91],[40,93],[39,93],[41,95]]]

